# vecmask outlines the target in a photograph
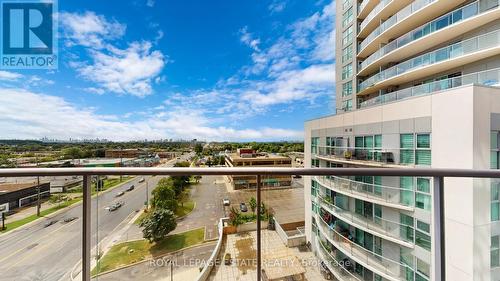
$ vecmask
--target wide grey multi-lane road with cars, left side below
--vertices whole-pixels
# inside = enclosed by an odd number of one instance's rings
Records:
[[[187,156],[183,156],[185,160]],[[172,166],[173,162],[167,166]],[[161,177],[145,177],[149,192]],[[128,221],[146,200],[146,182],[140,177],[115,188],[113,191],[92,199],[92,245],[102,241],[120,225]],[[134,184],[135,189],[115,198],[118,191]],[[116,201],[125,205],[114,212],[104,208]],[[78,217],[70,223],[61,221],[67,217]],[[13,230],[0,237],[0,280],[69,280],[69,272],[81,259],[81,205],[68,209],[50,219],[42,219],[29,227]],[[58,223],[44,227],[48,220]],[[98,229],[98,231],[96,231]]]

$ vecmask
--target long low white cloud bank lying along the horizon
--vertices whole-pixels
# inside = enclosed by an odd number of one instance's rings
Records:
[[[50,136],[126,141],[164,138],[281,140],[302,137],[301,131],[280,128],[238,130],[211,126],[213,122],[202,113],[189,109],[151,114],[143,120],[128,122],[117,116],[96,114],[90,108],[78,108],[60,97],[18,89],[0,89],[0,103],[3,138]]]

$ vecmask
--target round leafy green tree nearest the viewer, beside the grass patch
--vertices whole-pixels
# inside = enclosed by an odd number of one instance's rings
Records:
[[[177,227],[174,213],[167,209],[155,209],[141,221],[142,235],[150,243],[165,238]]]

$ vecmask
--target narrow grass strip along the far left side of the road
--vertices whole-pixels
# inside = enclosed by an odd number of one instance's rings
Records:
[[[132,180],[134,177],[125,177],[123,179],[122,182],[120,182],[119,179],[106,179],[104,180],[104,188],[101,192],[104,192],[104,191],[107,191],[107,190],[111,190],[121,184],[124,184],[130,180]],[[82,189],[79,188],[79,192],[82,192]],[[95,191],[95,187],[93,186],[92,187],[92,195],[96,195],[97,192]],[[66,207],[70,207],[78,202],[81,202],[82,201],[82,197],[81,196],[77,196],[77,197],[74,197],[74,198],[71,198],[69,200],[66,200],[66,201],[63,201],[63,202],[60,202],[58,203],[56,206],[53,206],[53,207],[50,207],[48,209],[45,209],[45,210],[42,210],[40,211],[40,216],[37,216],[36,214],[33,214],[33,215],[30,215],[30,216],[27,216],[25,218],[22,218],[22,219],[19,219],[19,220],[16,220],[16,221],[13,221],[13,222],[9,222],[9,223],[6,223],[5,224],[5,229],[4,230],[0,230],[0,234],[2,233],[6,233],[8,231],[11,231],[11,230],[14,230],[18,227],[21,227],[23,225],[26,225],[30,222],[33,222],[37,219],[40,219],[40,218],[43,218],[45,216],[48,216],[52,213],[55,213],[56,211],[59,211],[61,209],[64,209]],[[0,227],[1,229],[1,227]]]

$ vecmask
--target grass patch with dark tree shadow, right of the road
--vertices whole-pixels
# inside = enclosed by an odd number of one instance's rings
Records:
[[[178,234],[172,234],[163,240],[150,243],[148,240],[135,240],[114,245],[100,259],[92,270],[97,275],[117,268],[126,267],[155,257],[161,257],[187,247],[204,243],[205,229],[198,228]]]

